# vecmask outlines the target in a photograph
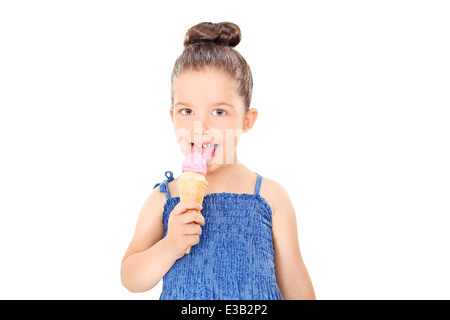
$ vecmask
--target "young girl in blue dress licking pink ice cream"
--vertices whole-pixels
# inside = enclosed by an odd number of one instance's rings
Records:
[[[122,261],[130,291],[163,279],[160,299],[315,299],[289,196],[237,158],[239,136],[258,115],[250,67],[233,49],[240,40],[230,22],[200,23],[186,34],[170,116],[183,153],[196,149],[208,159],[207,194],[202,205],[180,202],[178,179],[166,172]]]

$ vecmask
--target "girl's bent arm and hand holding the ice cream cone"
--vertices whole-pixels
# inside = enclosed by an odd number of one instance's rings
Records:
[[[132,292],[152,289],[182,257],[189,245],[198,243],[204,218],[193,201],[180,202],[171,212],[166,237],[162,222],[165,195],[153,190],[139,213],[133,239],[122,260],[122,284]],[[196,222],[196,224],[192,224]]]

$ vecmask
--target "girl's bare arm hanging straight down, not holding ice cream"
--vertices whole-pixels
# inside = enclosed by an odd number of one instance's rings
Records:
[[[261,192],[270,194],[275,270],[281,295],[286,300],[314,300],[313,285],[300,253],[292,202],[280,184],[269,179],[265,182]]]

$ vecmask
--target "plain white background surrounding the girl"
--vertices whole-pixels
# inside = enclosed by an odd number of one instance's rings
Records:
[[[0,298],[157,299],[120,263],[183,160],[187,29],[239,25],[241,162],[280,182],[318,299],[450,299],[447,1],[0,2]]]

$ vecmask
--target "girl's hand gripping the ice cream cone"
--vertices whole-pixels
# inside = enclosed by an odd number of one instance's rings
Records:
[[[199,243],[202,234],[201,226],[205,225],[205,218],[200,213],[201,209],[202,206],[199,203],[184,200],[170,213],[164,239],[176,259],[184,256],[188,247]]]

